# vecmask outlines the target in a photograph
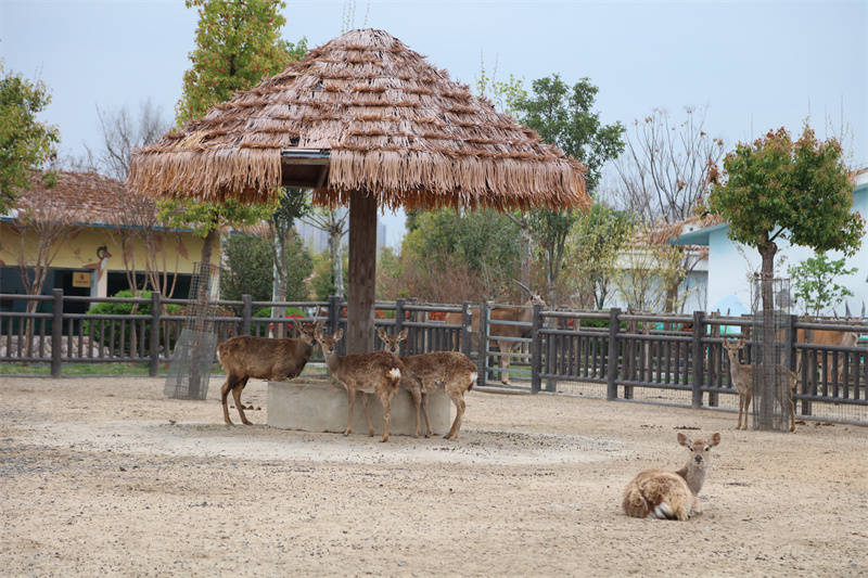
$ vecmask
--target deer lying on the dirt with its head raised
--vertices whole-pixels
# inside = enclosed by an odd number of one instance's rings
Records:
[[[720,434],[714,434],[710,441],[691,441],[678,434],[678,444],[690,452],[684,467],[675,472],[646,470],[627,486],[621,505],[631,517],[656,519],[679,519],[681,522],[699,514],[699,491],[705,481],[710,450],[720,442]]]

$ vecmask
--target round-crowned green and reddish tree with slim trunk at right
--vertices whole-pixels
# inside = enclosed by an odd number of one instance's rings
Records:
[[[710,210],[729,221],[733,241],[762,256],[763,342],[775,342],[773,277],[775,241],[788,239],[817,252],[855,253],[864,221],[852,213],[853,184],[837,140],[819,142],[805,125],[793,141],[781,128],[752,144],[739,144],[710,174]],[[775,352],[763,348],[766,387],[774,386]],[[771,427],[773,391],[762,395],[761,427]]]

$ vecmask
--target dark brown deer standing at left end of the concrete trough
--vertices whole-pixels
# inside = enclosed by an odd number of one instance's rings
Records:
[[[229,391],[232,391],[241,422],[244,425],[252,425],[244,415],[244,406],[241,404],[241,393],[247,385],[247,380],[255,377],[284,381],[297,377],[314,352],[314,334],[320,325],[322,321],[317,321],[316,324],[303,324],[297,339],[239,335],[217,346],[217,361],[226,371],[226,382],[220,387],[220,398],[224,404],[224,421],[228,425],[232,425],[226,403]]]

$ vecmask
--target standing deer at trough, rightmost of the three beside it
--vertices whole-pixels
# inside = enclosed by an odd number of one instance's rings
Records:
[[[400,342],[407,338],[407,330],[397,335],[388,335],[382,327],[378,330],[383,341],[383,350],[398,356]],[[470,391],[476,383],[476,365],[458,351],[435,351],[419,356],[400,358],[404,362],[404,376],[400,385],[410,393],[416,406],[416,437],[419,437],[419,409],[425,414],[425,437],[431,437],[431,422],[427,418],[427,396],[436,389],[443,389],[455,403],[456,415],[452,427],[443,436],[446,439],[458,439],[461,429],[461,418],[464,415],[464,393]]]

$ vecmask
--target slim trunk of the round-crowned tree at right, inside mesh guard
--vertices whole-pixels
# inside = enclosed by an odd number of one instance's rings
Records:
[[[763,365],[762,383],[754,384],[754,398],[758,394],[760,415],[756,421],[758,429],[774,428],[775,409],[775,303],[774,285],[775,279],[775,253],[778,246],[768,241],[760,247],[760,255],[763,257],[763,267],[760,277],[761,295],[763,298]],[[757,387],[757,385],[760,387]]]

